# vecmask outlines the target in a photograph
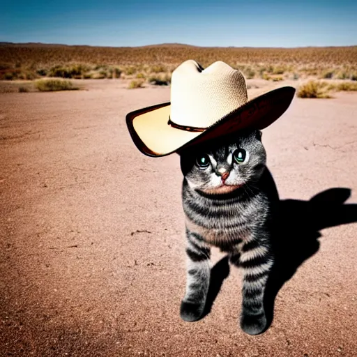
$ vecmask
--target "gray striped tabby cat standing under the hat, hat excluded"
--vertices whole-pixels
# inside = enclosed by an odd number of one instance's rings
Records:
[[[210,245],[215,245],[243,268],[241,328],[257,335],[267,325],[264,289],[273,267],[271,236],[279,200],[261,132],[240,132],[180,155],[188,241],[181,317],[196,321],[204,314]]]

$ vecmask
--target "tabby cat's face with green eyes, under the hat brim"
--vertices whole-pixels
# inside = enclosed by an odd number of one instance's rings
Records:
[[[181,170],[190,187],[211,195],[254,183],[266,165],[266,151],[258,130],[188,149],[180,155]]]

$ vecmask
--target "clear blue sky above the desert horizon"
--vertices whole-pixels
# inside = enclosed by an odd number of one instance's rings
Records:
[[[67,45],[357,45],[357,1],[7,1],[0,41]]]

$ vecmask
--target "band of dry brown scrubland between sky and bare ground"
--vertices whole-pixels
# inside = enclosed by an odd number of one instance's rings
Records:
[[[5,44],[0,45],[0,59],[0,79],[138,77],[149,82],[150,77],[171,75],[187,59],[195,59],[204,67],[225,61],[242,70],[247,79],[357,79],[357,46],[284,49]]]

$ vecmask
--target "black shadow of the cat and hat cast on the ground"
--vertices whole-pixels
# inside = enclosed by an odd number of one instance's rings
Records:
[[[331,188],[309,201],[286,199],[280,201],[280,220],[274,234],[275,265],[269,276],[265,294],[268,328],[273,321],[275,297],[303,262],[319,250],[320,230],[357,222],[357,204],[344,204],[350,197],[349,188]],[[211,270],[211,282],[204,316],[211,312],[222,283],[229,275],[225,257]]]

